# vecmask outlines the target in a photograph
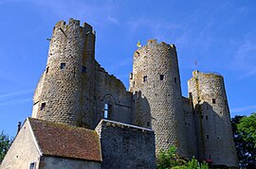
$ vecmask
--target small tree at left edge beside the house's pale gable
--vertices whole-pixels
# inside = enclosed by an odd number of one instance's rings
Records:
[[[9,139],[9,135],[5,134],[4,131],[0,134],[0,163],[4,160],[9,146],[11,144],[11,139]]]

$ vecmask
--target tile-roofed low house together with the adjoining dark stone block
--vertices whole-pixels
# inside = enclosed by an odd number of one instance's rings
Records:
[[[27,118],[0,169],[155,168],[155,133],[102,119],[92,129]]]

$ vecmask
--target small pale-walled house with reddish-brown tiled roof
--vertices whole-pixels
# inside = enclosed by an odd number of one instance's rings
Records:
[[[101,168],[98,133],[27,118],[2,162],[2,169]]]

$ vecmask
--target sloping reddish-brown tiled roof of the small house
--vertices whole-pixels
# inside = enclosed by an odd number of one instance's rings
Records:
[[[28,118],[43,155],[101,161],[101,144],[95,130]]]

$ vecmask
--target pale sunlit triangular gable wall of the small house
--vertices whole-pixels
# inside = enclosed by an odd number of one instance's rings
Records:
[[[2,162],[1,169],[29,168],[31,162],[36,162],[36,169],[40,154],[36,147],[28,121],[25,122],[18,135],[11,144],[9,151]]]

